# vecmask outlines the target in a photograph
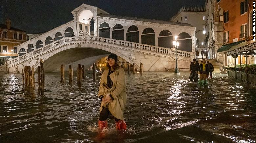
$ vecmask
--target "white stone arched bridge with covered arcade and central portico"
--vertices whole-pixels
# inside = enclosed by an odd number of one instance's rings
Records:
[[[175,67],[175,35],[180,43],[178,66],[189,67],[195,57],[195,27],[190,24],[114,16],[82,4],[71,12],[73,20],[18,45],[19,56],[6,63],[9,71],[39,66],[45,71],[65,70],[70,64],[89,68],[96,60],[114,53],[144,71]],[[74,70],[77,66],[73,66]]]

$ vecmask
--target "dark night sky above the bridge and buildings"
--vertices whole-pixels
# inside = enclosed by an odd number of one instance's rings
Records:
[[[202,6],[205,0],[0,0],[0,23],[29,33],[49,31],[73,19],[81,4],[96,6],[113,15],[169,20],[183,6]]]

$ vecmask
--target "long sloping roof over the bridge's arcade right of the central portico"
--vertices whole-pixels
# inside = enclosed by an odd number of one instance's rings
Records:
[[[194,26],[192,26],[188,23],[172,22],[172,21],[164,21],[164,20],[156,20],[156,19],[145,19],[145,18],[137,18],[137,17],[116,16],[116,15],[108,15],[108,14],[98,14],[98,16],[100,16],[100,17],[109,17],[109,18],[117,18],[117,19],[125,19],[125,20],[152,22],[152,23],[159,23],[159,24],[170,24],[170,25],[194,27]]]

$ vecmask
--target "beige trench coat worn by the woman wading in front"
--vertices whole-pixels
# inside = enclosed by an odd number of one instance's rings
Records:
[[[101,76],[98,96],[105,96],[104,94],[110,93],[114,100],[111,103],[108,103],[108,105],[106,105],[106,103],[102,101],[100,106],[100,112],[102,110],[102,107],[105,107],[109,109],[110,113],[114,117],[120,120],[124,120],[123,113],[127,98],[124,69],[119,67],[109,75],[110,79],[113,82],[113,86],[111,89],[107,89],[107,87],[103,85],[103,83],[107,85],[108,72],[109,70],[105,70]]]

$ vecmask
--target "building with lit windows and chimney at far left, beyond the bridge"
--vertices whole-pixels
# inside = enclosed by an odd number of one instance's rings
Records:
[[[18,56],[18,45],[26,41],[26,32],[11,27],[11,21],[0,24],[0,65]]]

